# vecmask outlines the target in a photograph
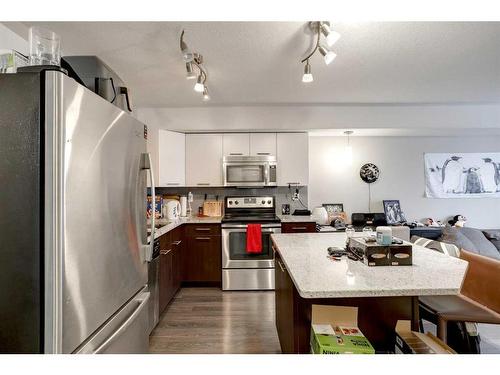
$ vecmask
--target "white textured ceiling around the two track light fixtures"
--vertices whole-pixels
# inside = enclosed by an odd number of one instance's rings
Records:
[[[40,24],[62,36],[66,54],[95,54],[109,64],[136,107],[500,102],[498,22],[334,24],[342,34],[338,57],[326,66],[315,56],[307,85],[300,64],[312,45],[306,22]],[[209,103],[185,79],[182,29],[205,58]]]

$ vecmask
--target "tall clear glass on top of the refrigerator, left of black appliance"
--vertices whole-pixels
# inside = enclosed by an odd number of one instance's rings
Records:
[[[29,30],[30,65],[61,64],[61,38],[53,31],[32,26]]]

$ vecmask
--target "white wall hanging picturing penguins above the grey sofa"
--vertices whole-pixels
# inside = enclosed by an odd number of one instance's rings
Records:
[[[429,198],[500,198],[500,153],[426,153]]]

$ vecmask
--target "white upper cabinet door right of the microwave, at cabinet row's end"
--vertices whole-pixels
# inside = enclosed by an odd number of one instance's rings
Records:
[[[309,183],[309,136],[307,133],[278,133],[278,185]]]

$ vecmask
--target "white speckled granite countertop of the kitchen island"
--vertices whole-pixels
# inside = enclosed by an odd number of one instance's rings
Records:
[[[347,257],[327,258],[329,246],[345,245],[345,233],[271,237],[303,298],[454,295],[468,266],[461,259],[413,245],[413,266],[369,267]]]

